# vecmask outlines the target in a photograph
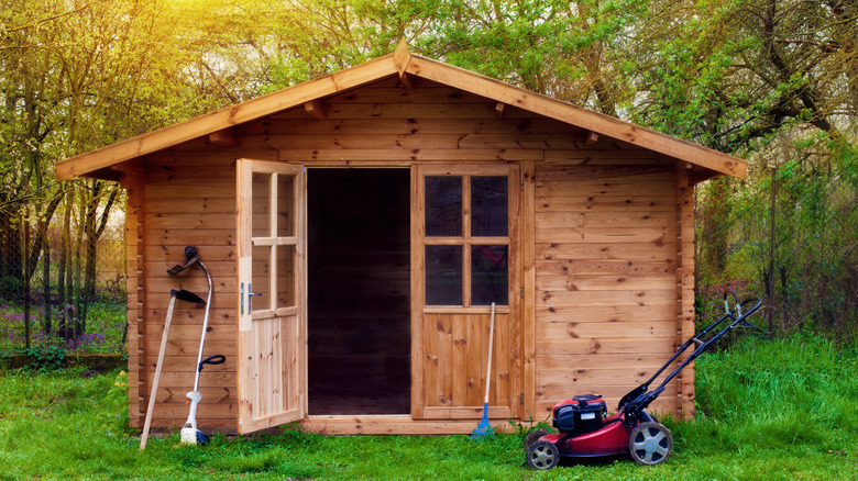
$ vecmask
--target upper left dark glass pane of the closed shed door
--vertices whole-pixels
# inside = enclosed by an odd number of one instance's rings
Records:
[[[462,236],[462,178],[426,178],[426,236]]]

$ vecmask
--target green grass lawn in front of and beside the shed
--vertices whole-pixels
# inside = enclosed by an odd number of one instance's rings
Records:
[[[151,438],[140,452],[118,372],[89,379],[78,370],[7,372],[0,376],[0,480],[858,479],[857,372],[857,349],[816,338],[740,342],[697,361],[698,416],[693,423],[662,420],[675,446],[666,463],[645,468],[620,456],[563,460],[546,472],[524,466],[515,434],[471,443],[468,436],[321,436],[284,428],[276,436],[213,436],[206,447],[177,447],[173,434]]]

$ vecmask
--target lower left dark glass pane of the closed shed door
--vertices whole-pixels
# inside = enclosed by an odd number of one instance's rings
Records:
[[[426,246],[426,305],[462,305],[461,246]]]

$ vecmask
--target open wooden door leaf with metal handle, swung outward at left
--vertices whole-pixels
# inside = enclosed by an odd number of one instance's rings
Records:
[[[300,420],[307,400],[306,175],[238,160],[239,433]]]

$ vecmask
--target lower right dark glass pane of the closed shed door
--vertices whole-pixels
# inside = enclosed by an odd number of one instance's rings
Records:
[[[471,304],[508,303],[508,246],[471,246]]]

